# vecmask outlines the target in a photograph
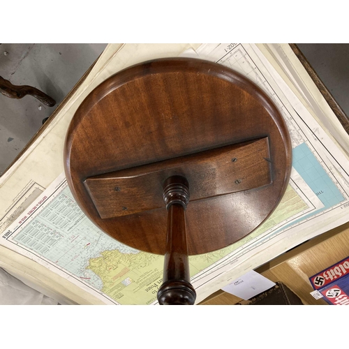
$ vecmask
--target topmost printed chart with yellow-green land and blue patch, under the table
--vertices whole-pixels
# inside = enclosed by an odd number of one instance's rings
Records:
[[[292,91],[276,84],[270,67],[258,56],[258,47],[205,44],[193,53],[237,70],[260,85],[281,110],[293,149],[290,184],[272,216],[239,242],[190,257],[191,282],[200,302],[200,297],[216,290],[214,286],[239,277],[235,269],[241,272],[245,265],[251,269],[253,263],[258,267],[346,223],[349,165]],[[157,304],[163,256],[137,251],[101,232],[77,206],[64,174],[1,236],[3,246],[54,270],[107,304]]]

